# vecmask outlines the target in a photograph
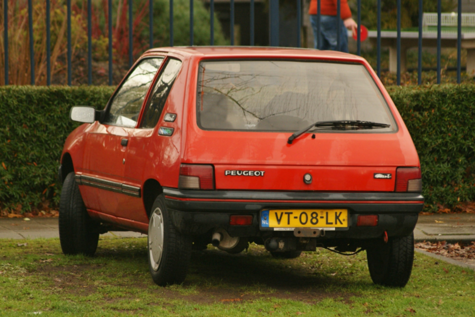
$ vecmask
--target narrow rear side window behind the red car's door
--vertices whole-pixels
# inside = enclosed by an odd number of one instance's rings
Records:
[[[153,128],[157,124],[181,65],[182,62],[177,59],[168,60],[143,112],[141,128]]]

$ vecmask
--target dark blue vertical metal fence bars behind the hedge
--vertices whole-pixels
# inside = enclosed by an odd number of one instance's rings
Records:
[[[146,0],[144,0],[146,1]],[[230,34],[231,45],[234,43],[234,18],[235,18],[235,0],[230,0]],[[401,0],[397,1],[397,85],[401,83]],[[419,1],[419,50],[418,50],[418,83],[422,83],[422,41],[423,41],[423,0]],[[67,83],[71,85],[72,77],[72,65],[71,65],[71,0],[67,0]],[[128,21],[129,30],[132,30],[133,25],[133,10],[132,0],[128,0]],[[153,47],[153,0],[149,0],[149,46]],[[317,0],[317,19],[320,19],[320,3],[321,0]],[[337,16],[340,15],[341,0],[337,0]],[[173,0],[170,0],[170,46],[173,46]],[[210,45],[214,45],[214,0],[210,0]],[[254,46],[254,0],[250,0],[250,45]],[[302,25],[302,0],[296,0],[297,11],[297,32],[295,37],[297,39],[297,47],[301,46],[301,25]],[[50,0],[46,0],[46,31],[47,31],[47,85],[51,84],[51,36],[50,36]],[[437,84],[440,84],[441,77],[441,0],[437,0]],[[28,0],[28,23],[29,23],[29,43],[30,43],[30,67],[31,67],[31,84],[35,85],[35,59],[34,59],[34,45],[33,45],[33,12],[32,12],[32,0]],[[87,0],[87,12],[88,12],[88,83],[92,84],[92,0]],[[381,75],[381,0],[377,0],[377,73]],[[112,16],[112,0],[108,0],[108,14]],[[3,23],[4,23],[4,76],[5,85],[8,85],[8,0],[3,0]],[[361,0],[357,0],[357,54],[361,54]],[[193,0],[190,0],[190,45],[193,45]],[[318,24],[318,27],[320,25]],[[340,24],[337,24],[338,28],[338,47],[341,41],[340,39]],[[462,40],[462,2],[458,0],[458,14],[457,14],[457,83],[461,82],[461,40]],[[112,85],[112,19],[108,19],[108,65],[109,65],[109,85]],[[279,46],[279,0],[269,0],[269,43],[270,46]],[[129,32],[129,66],[133,64],[133,33]]]

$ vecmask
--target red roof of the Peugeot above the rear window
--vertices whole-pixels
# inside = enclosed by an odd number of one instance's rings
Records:
[[[275,57],[316,57],[322,59],[352,59],[364,60],[364,58],[341,52],[319,51],[314,49],[297,48],[278,48],[278,47],[255,47],[255,46],[190,46],[190,47],[164,47],[148,50],[152,52],[173,52],[182,55],[201,55],[201,56],[275,56]]]

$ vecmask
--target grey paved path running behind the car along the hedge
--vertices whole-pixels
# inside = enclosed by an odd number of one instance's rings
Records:
[[[58,218],[0,218],[0,239],[57,238]],[[112,231],[101,237],[143,237],[131,231]],[[420,215],[414,230],[416,241],[475,241],[475,214]]]

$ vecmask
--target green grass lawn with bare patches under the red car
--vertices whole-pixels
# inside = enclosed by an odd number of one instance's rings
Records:
[[[194,252],[183,285],[158,287],[145,248],[103,239],[94,258],[66,257],[58,239],[0,240],[0,315],[475,316],[474,271],[420,254],[404,289],[374,285],[365,252],[276,260],[255,245]]]

